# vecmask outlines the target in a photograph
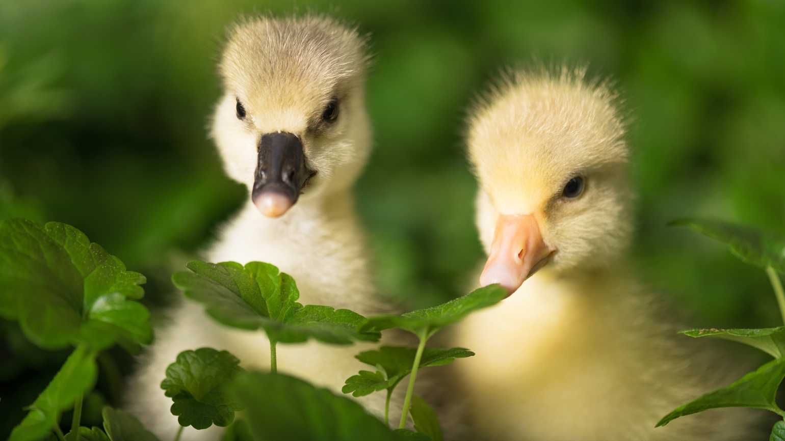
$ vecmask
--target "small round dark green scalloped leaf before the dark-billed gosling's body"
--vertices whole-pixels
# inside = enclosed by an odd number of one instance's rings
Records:
[[[241,406],[228,392],[228,385],[243,368],[239,359],[226,351],[199,348],[177,355],[166,368],[161,388],[173,399],[172,414],[181,426],[226,427],[235,419]]]

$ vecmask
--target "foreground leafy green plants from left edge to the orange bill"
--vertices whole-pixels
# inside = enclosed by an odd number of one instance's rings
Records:
[[[76,228],[24,219],[0,222],[0,268],[0,316],[18,321],[25,336],[41,348],[74,347],[27,407],[9,441],[160,441],[135,417],[109,406],[101,412],[103,429],[82,426],[81,421],[83,399],[97,380],[99,353],[115,345],[135,352],[152,341],[149,313],[138,302],[144,295],[144,276],[126,271],[122,261]],[[173,275],[174,285],[203,304],[217,322],[265,332],[270,371],[248,372],[234,355],[214,348],[181,352],[162,373],[161,383],[181,426],[174,441],[185,427],[212,425],[229,427],[228,441],[441,441],[436,412],[414,395],[418,370],[474,354],[464,348],[426,348],[426,343],[444,326],[506,297],[506,290],[491,285],[433,308],[365,318],[348,309],[299,304],[294,279],[272,264],[192,261],[188,269]],[[354,396],[385,390],[384,421],[352,399],[278,373],[277,344],[378,341],[389,329],[414,333],[418,347],[361,352],[356,358],[377,370],[349,377],[343,390]],[[402,416],[393,430],[389,397],[406,377]],[[68,433],[60,428],[66,410],[72,414]],[[243,419],[235,418],[239,411]],[[410,416],[415,432],[406,428]]]

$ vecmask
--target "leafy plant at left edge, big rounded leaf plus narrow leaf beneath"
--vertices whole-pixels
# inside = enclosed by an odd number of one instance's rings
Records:
[[[24,335],[42,348],[77,346],[13,429],[11,441],[35,441],[59,430],[60,414],[71,406],[75,441],[82,398],[97,378],[97,353],[115,343],[133,350],[152,341],[150,315],[138,302],[144,281],[70,225],[0,222],[0,315],[18,320]]]

